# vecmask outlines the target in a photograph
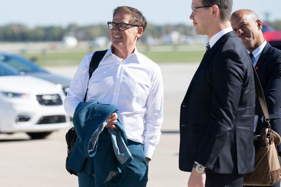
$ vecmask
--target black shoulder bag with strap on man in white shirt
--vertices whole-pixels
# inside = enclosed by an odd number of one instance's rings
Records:
[[[93,72],[97,69],[100,61],[102,60],[102,58],[104,57],[105,53],[107,52],[107,50],[104,51],[96,51],[91,59],[90,62],[90,66],[89,66],[89,80],[92,77]],[[88,86],[87,86],[88,87]],[[87,96],[87,92],[88,92],[88,88],[84,97],[84,102],[86,101],[86,96]],[[75,141],[76,141],[76,137],[77,134],[75,132],[75,128],[72,127],[71,129],[68,130],[68,132],[65,135],[65,139],[66,139],[66,144],[67,144],[67,157],[66,157],[66,164],[69,160],[69,157],[71,155],[71,152],[73,150]],[[73,171],[72,169],[68,168],[65,164],[66,170],[70,173],[70,174],[74,174],[77,176],[77,172]]]

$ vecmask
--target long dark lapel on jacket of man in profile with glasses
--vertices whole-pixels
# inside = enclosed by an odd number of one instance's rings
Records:
[[[226,39],[228,39],[229,37],[237,37],[235,32],[234,31],[231,31],[231,32],[228,32],[226,33],[225,35],[223,35],[222,37],[220,37],[220,39],[215,43],[215,45],[209,49],[208,51],[206,51],[206,53],[204,54],[202,60],[201,60],[201,63],[198,67],[198,69],[196,70],[190,84],[189,84],[189,87],[186,91],[186,95],[187,93],[189,92],[190,88],[192,87],[194,81],[196,80],[199,72],[201,71],[202,67],[205,65],[205,63],[207,62],[207,60],[210,58],[210,56],[212,56],[219,48],[220,48],[220,44],[222,42],[224,42]]]

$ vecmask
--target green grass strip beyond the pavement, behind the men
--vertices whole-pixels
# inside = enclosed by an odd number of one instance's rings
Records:
[[[156,63],[162,62],[200,62],[204,51],[165,51],[142,52]],[[40,53],[22,54],[25,58],[34,60],[39,65],[78,65],[87,52],[74,53]]]

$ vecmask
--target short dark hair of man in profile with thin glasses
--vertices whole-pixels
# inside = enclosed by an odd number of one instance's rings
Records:
[[[232,12],[232,0],[201,0],[203,6],[217,5],[220,10],[220,19],[229,21]]]

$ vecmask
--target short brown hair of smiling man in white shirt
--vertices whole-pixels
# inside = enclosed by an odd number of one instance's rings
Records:
[[[117,12],[123,12],[131,15],[132,19],[129,24],[138,25],[140,27],[143,27],[143,31],[145,30],[147,21],[138,9],[129,6],[118,6],[113,10],[113,18]]]

